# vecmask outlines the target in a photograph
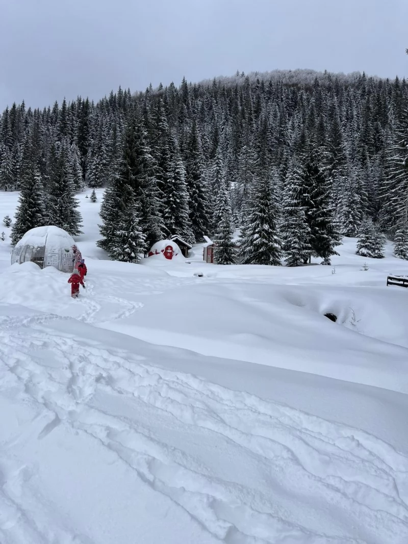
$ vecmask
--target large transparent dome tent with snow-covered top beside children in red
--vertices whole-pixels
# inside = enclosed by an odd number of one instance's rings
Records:
[[[32,262],[40,268],[54,267],[61,272],[72,272],[75,242],[70,234],[53,225],[35,227],[17,242],[11,254],[11,264]]]

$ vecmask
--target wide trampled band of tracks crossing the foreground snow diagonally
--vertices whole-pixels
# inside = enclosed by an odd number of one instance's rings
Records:
[[[122,304],[114,295],[112,300]],[[84,320],[91,322],[96,304],[88,308]],[[126,305],[117,318],[137,308]],[[47,417],[43,409],[43,416],[26,432],[36,432],[39,440],[60,424],[85,432],[228,544],[408,542],[407,459],[378,438],[83,345],[47,330],[47,323],[58,316],[46,317],[16,320],[0,328],[0,354],[20,382],[22,394],[47,410]],[[16,331],[17,326],[24,328]],[[41,349],[53,353],[58,366],[45,366],[33,356]],[[118,394],[134,405],[134,419],[104,412],[105,403],[98,402],[100,395],[118,398]],[[148,418],[143,417],[146,410]],[[223,446],[235,452],[243,470],[225,475],[217,472],[217,463],[203,465],[187,445],[183,450],[180,443],[173,447],[160,440],[172,425],[182,429],[186,444],[189,433],[200,429],[203,441],[209,438],[220,448],[219,455],[226,451]],[[24,436],[23,431],[18,440]],[[4,450],[12,445],[4,444]],[[245,478],[250,465],[259,471],[261,483],[256,488]],[[24,509],[23,484],[30,470],[0,458],[0,540],[88,542],[57,524],[39,526],[35,512]],[[44,501],[42,509],[52,508],[46,499],[37,499]],[[302,521],[290,513],[293,503],[306,512]],[[354,527],[353,537],[340,529],[324,533],[322,527],[331,526],[332,513],[325,520],[323,504],[335,512],[334,525]]]

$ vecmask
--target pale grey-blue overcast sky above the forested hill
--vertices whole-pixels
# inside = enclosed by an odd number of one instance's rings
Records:
[[[0,0],[0,110],[236,70],[408,76],[408,0]]]

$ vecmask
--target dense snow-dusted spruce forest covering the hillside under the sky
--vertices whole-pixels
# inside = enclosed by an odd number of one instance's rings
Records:
[[[106,186],[102,248],[137,261],[158,239],[209,234],[232,263],[329,263],[342,236],[408,258],[408,86],[365,75],[270,72],[111,92],[1,117],[0,188],[20,189],[16,243],[75,235],[75,194]],[[1,197],[1,196],[0,196]]]

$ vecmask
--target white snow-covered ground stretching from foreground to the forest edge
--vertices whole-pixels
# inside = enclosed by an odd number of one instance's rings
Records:
[[[1,544],[407,544],[408,262],[111,262],[97,194],[78,300],[0,225]]]

